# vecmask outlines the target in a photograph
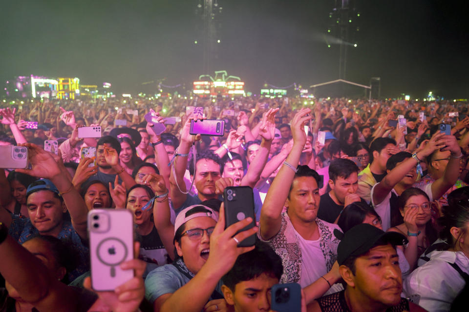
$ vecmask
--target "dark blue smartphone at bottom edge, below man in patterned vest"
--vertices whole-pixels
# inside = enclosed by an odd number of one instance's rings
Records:
[[[301,287],[297,283],[275,284],[271,290],[271,310],[301,312]]]

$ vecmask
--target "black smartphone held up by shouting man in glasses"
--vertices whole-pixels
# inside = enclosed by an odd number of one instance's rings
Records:
[[[249,186],[229,186],[223,191],[223,202],[225,203],[225,229],[230,225],[251,217],[253,222],[245,228],[236,232],[243,232],[256,226],[256,215],[254,214],[253,189]],[[240,241],[239,247],[254,246],[256,234]]]

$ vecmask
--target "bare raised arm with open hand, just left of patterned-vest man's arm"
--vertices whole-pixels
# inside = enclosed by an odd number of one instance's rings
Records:
[[[277,112],[278,108],[271,108],[262,118],[262,125],[260,126],[259,132],[262,137],[260,150],[249,166],[246,175],[241,180],[242,186],[254,188],[257,181],[259,181],[262,170],[269,158],[270,147],[275,136],[275,114],[277,114]]]

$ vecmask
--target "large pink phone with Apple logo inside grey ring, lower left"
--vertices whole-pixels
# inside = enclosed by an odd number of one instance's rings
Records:
[[[134,274],[121,270],[133,259],[133,216],[126,209],[93,209],[88,213],[91,286],[95,291],[114,291]]]

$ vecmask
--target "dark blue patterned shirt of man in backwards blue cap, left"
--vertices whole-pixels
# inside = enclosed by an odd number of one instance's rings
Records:
[[[20,244],[40,235],[38,229],[33,226],[30,219],[20,218],[17,215],[11,215],[11,218],[12,220],[10,228],[8,229],[8,234],[15,238]],[[89,249],[83,244],[80,235],[75,231],[70,221],[64,221],[62,224],[62,230],[59,235],[57,235],[57,238],[71,244],[71,248],[78,253],[78,267],[74,271],[68,273],[69,279],[72,281],[89,270]]]

